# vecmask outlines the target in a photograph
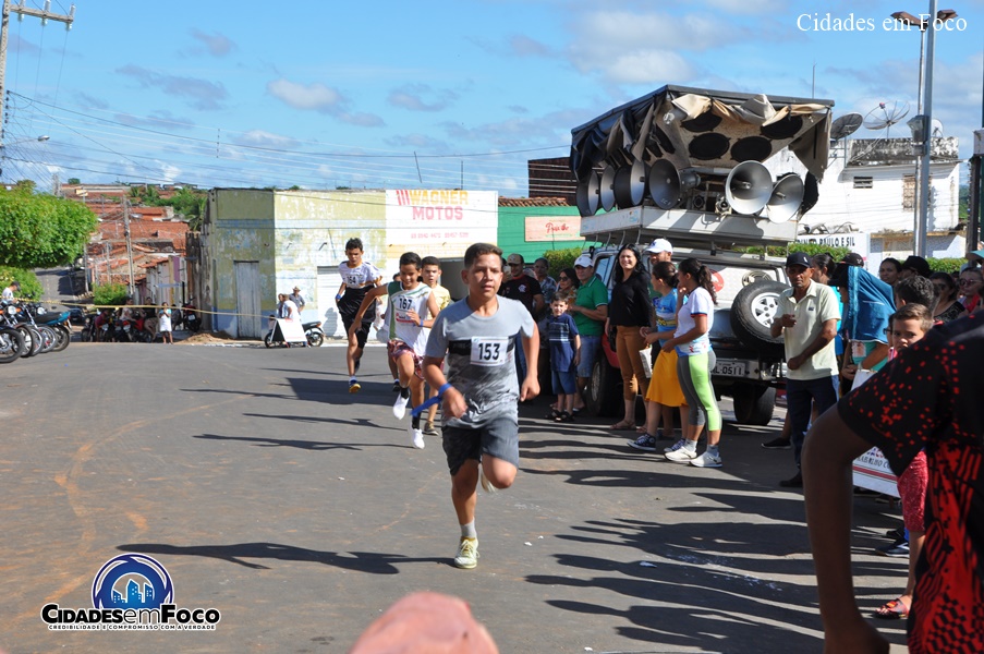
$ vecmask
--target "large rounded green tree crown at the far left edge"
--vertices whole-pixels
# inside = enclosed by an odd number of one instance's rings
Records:
[[[26,187],[0,190],[0,264],[50,268],[82,255],[96,215],[82,204]]]

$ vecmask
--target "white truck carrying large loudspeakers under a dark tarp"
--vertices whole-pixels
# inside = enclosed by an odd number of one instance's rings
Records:
[[[827,166],[833,105],[664,86],[572,130],[581,235],[602,243],[587,253],[609,289],[621,245],[642,251],[656,238],[673,244],[673,261],[694,257],[713,271],[713,383],[740,423],[767,424],[785,383],[769,322],[788,284],[785,258],[733,249],[795,240]],[[603,343],[587,403],[618,413],[618,359]]]

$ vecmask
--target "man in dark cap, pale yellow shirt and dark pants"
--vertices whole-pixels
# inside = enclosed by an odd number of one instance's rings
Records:
[[[797,462],[797,474],[779,485],[795,488],[803,485],[800,453],[812,404],[823,413],[837,403],[834,337],[840,307],[834,289],[813,281],[813,265],[805,253],[793,252],[786,258],[786,274],[792,288],[779,294],[770,332],[773,338],[781,334],[786,346],[786,410]]]

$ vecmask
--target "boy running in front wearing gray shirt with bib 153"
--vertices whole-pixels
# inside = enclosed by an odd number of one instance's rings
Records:
[[[478,564],[478,482],[491,492],[508,488],[515,479],[518,400],[539,393],[539,335],[525,306],[497,294],[502,283],[501,250],[488,243],[470,246],[461,277],[469,294],[438,314],[424,353],[424,377],[444,401],[442,440],[451,472],[451,501],[461,526],[454,565],[474,568]],[[520,335],[530,362],[521,388],[514,361]],[[441,371],[445,358],[447,377]]]

